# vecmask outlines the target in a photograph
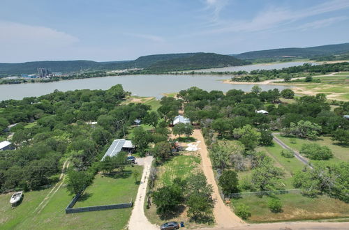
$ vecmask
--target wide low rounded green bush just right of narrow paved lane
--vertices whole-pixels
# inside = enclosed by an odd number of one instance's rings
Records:
[[[299,153],[304,154],[311,160],[329,160],[333,157],[331,149],[327,146],[320,146],[316,143],[303,144]]]

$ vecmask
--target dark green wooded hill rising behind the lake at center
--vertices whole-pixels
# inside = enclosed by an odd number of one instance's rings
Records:
[[[191,56],[184,56],[177,59],[158,61],[149,66],[147,70],[158,72],[195,70],[204,68],[221,68],[226,66],[242,66],[248,63],[248,61],[242,61],[229,55],[196,53]]]

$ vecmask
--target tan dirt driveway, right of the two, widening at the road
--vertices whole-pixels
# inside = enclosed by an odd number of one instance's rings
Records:
[[[214,218],[216,220],[217,228],[232,228],[242,226],[244,222],[232,212],[229,206],[226,206],[219,195],[218,186],[214,179],[214,172],[212,171],[211,160],[209,159],[209,153],[207,151],[207,146],[204,141],[204,137],[202,137],[202,133],[200,130],[194,130],[193,137],[200,141],[198,143],[198,151],[201,155],[201,166],[204,174],[207,178],[207,183],[211,184],[214,189],[214,194],[212,197],[216,200],[216,204],[214,205]]]

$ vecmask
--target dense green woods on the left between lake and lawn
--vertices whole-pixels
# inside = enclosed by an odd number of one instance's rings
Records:
[[[0,102],[1,130],[18,123],[10,130],[16,149],[0,152],[0,191],[50,185],[67,159],[75,171],[91,175],[98,167],[107,170],[108,165],[97,162],[111,141],[124,137],[136,118],[150,116],[147,105],[121,105],[128,94],[116,85],[107,91],[54,91]]]

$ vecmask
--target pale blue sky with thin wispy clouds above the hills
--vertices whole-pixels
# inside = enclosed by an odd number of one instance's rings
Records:
[[[0,62],[349,42],[349,0],[1,0]]]

